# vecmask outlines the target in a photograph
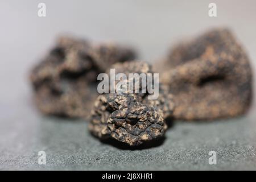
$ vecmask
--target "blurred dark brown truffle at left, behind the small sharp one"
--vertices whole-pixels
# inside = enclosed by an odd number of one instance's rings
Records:
[[[98,73],[134,57],[130,48],[115,44],[93,45],[81,39],[59,38],[31,73],[39,110],[44,114],[87,117],[97,97]]]

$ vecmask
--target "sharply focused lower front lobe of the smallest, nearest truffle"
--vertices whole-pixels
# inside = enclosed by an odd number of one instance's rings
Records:
[[[133,94],[104,94],[95,106],[89,130],[99,138],[112,137],[137,146],[162,137],[167,128],[162,115],[138,102]]]

